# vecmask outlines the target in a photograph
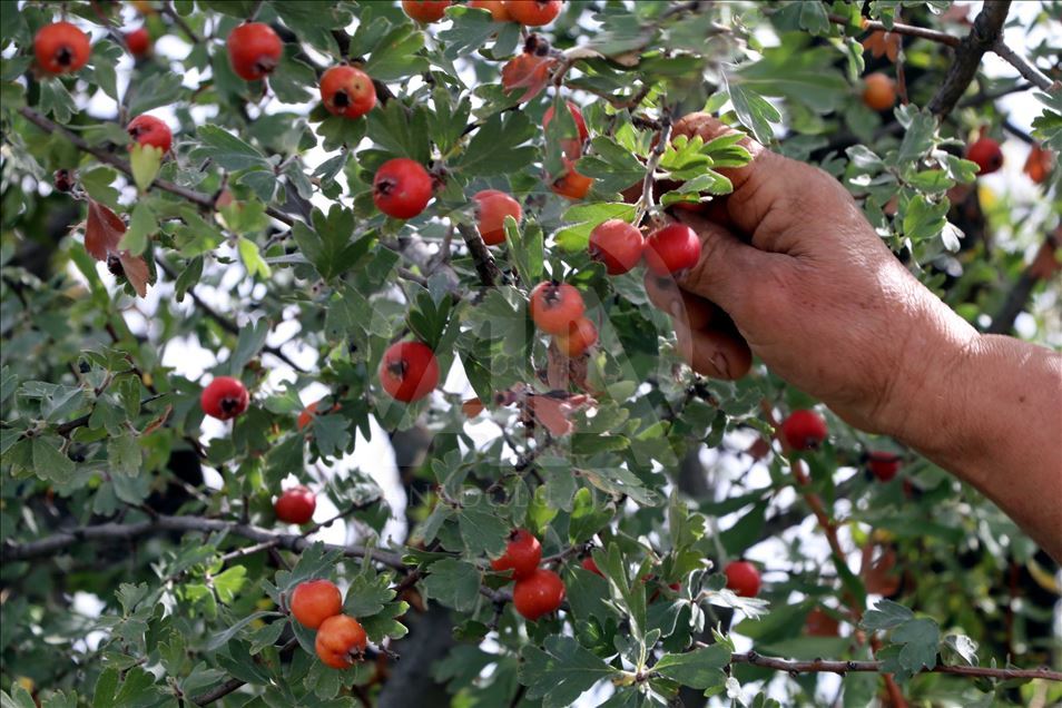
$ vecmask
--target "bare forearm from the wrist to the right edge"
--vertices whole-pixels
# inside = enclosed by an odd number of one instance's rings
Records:
[[[963,338],[926,355],[897,436],[1062,560],[1062,356],[1011,337]]]

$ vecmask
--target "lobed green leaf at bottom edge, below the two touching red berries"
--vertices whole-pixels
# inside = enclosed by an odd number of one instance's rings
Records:
[[[520,657],[520,682],[528,687],[528,698],[542,699],[543,708],[568,708],[594,684],[618,673],[572,637],[552,635],[544,650],[528,645]]]

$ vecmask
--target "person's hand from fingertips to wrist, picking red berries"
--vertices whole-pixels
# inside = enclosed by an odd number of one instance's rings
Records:
[[[707,114],[673,129],[706,142],[726,132]],[[700,373],[740,377],[755,353],[849,423],[901,433],[911,396],[975,331],[907,272],[836,179],[741,144],[751,163],[720,170],[734,193],[707,215],[677,212],[700,235],[700,262],[677,281],[647,275],[650,299]]]

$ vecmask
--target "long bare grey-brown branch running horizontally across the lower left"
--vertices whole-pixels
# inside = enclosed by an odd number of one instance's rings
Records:
[[[137,523],[101,523],[79,527],[71,531],[63,531],[24,543],[8,540],[4,541],[3,545],[0,545],[0,561],[7,563],[58,555],[63,552],[69,552],[70,548],[79,541],[112,543],[130,541],[165,531],[228,533],[229,535],[238,535],[257,543],[272,542],[279,549],[296,552],[303,551],[313,544],[312,541],[302,534],[276,533],[249,523],[225,521],[222,519],[203,519],[200,517],[169,517],[160,514],[154,519]],[[326,543],[325,548],[342,551],[344,555],[352,558],[364,557],[367,553],[374,561],[390,568],[399,570],[405,568],[402,558],[397,553],[390,551],[357,543],[350,545]]]

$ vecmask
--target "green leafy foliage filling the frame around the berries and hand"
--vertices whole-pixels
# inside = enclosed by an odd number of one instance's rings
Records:
[[[885,27],[962,37],[951,3],[571,0],[534,35],[551,48],[541,60],[519,26],[462,4],[437,26],[390,2],[126,4],[3,3],[4,708],[409,705],[416,672],[387,651],[426,642],[417,618],[440,611],[446,653],[416,661],[433,662],[420,680],[454,705],[826,700],[817,669],[776,673],[738,649],[749,640],[760,657],[882,660],[892,678],[848,673],[845,705],[896,684],[911,700],[1062,700],[1043,681],[920,673],[1056,663],[1053,567],[1009,520],[898,449],[901,478],[875,482],[861,455],[893,443],[828,413],[822,450],[771,450],[777,414],[814,401],[759,365],[737,383],[692,374],[640,272],[609,277],[587,254],[608,218],[730,191],[726,168],[748,159],[735,139],[653,151],[668,121],[704,109],[842,180],[917,277],[991,322],[1060,216],[1058,169],[1023,201],[974,188],[961,156],[977,129],[1003,137],[992,99],[1023,79],[979,75],[934,116],[951,50],[906,37],[896,68],[909,102],[878,114],[859,100],[865,71],[893,70],[864,52],[861,8]],[[1059,11],[1044,3],[1026,29]],[[92,56],[42,77],[32,38],[60,12],[92,30]],[[226,57],[252,13],[285,42],[266,82],[243,81]],[[141,20],[156,52],[134,63],[120,32]],[[1045,43],[1030,58],[1051,55]],[[377,81],[364,118],[317,105],[317,76],[344,59]],[[503,87],[507,65],[517,78]],[[1033,137],[1058,153],[1060,94],[1031,92]],[[596,181],[579,204],[549,189],[577,135],[567,98],[592,136],[574,167]],[[179,127],[170,155],[127,149],[122,126],[148,110]],[[407,222],[372,200],[395,157],[441,179]],[[647,164],[677,186],[625,201]],[[70,194],[52,186],[60,169],[76,173]],[[524,206],[492,250],[470,198],[485,188]],[[551,277],[577,285],[599,324],[576,362],[528,318],[528,292]],[[1056,324],[1050,297],[1027,307],[1040,340]],[[410,337],[459,373],[404,405],[376,371]],[[208,374],[243,380],[245,415],[204,421]],[[474,419],[471,397],[486,406]],[[366,452],[382,440],[397,481]],[[272,502],[289,478],[334,519],[318,508],[317,524],[278,524]],[[383,501],[387,485],[404,513]],[[830,531],[814,527],[810,495],[845,557],[820,550]],[[392,517],[407,534],[385,534]],[[319,541],[330,519],[342,543]],[[488,564],[517,527],[567,586],[563,609],[538,622]],[[600,576],[579,564],[587,554]],[[763,598],[725,587],[722,566],[743,555],[771,559]],[[337,671],[316,659],[286,601],[318,577],[344,588],[375,660]],[[839,637],[808,636],[814,608],[842,620]]]

